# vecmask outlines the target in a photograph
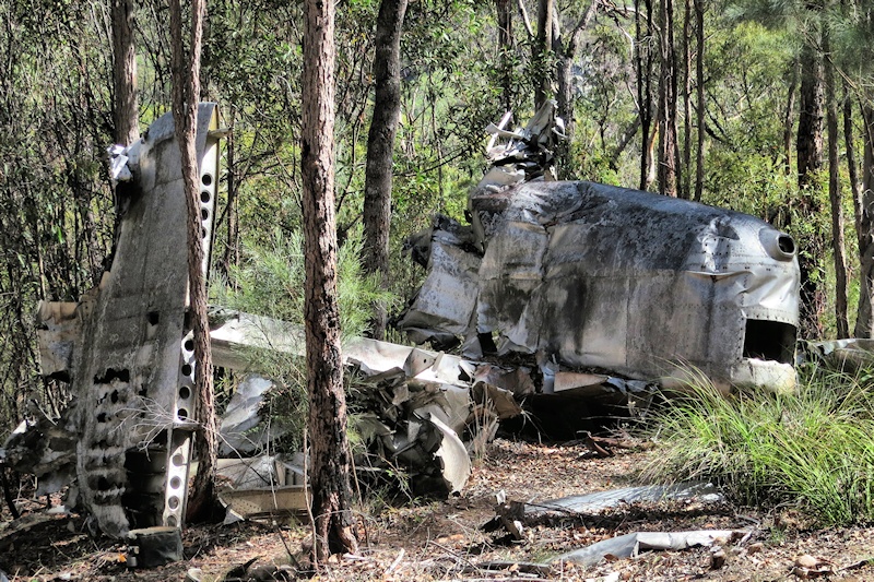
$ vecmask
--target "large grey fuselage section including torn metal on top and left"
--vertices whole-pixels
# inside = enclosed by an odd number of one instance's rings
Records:
[[[673,387],[698,369],[723,389],[792,390],[799,268],[767,223],[635,190],[550,176],[550,104],[507,143],[469,197],[471,225],[435,218],[408,241],[427,268],[399,326],[416,343],[462,343],[473,359],[523,355],[557,376],[609,370]],[[603,383],[586,385],[597,393]]]

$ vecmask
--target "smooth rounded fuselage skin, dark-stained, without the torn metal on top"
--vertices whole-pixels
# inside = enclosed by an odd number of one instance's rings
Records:
[[[682,363],[732,382],[757,331],[747,322],[798,324],[794,246],[753,216],[591,182],[480,191],[471,205],[491,225],[477,330],[497,332],[501,352],[631,378]],[[790,364],[794,334],[770,340],[758,355]]]

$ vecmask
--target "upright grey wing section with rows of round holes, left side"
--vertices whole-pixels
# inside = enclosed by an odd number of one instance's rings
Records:
[[[197,151],[206,256],[218,169],[217,138],[210,130],[216,120],[215,105],[201,104]],[[83,334],[72,366],[82,501],[113,536],[181,525],[194,406],[185,322],[188,211],[172,114],[123,154],[132,179],[117,189],[123,214],[116,253],[93,311],[80,313]]]

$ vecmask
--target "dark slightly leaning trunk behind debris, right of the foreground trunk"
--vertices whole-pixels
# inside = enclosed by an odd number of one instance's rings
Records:
[[[401,31],[408,0],[382,0],[376,21],[374,117],[367,136],[364,186],[364,269],[388,286],[391,179],[401,115]],[[371,335],[386,337],[386,307],[374,306]]]

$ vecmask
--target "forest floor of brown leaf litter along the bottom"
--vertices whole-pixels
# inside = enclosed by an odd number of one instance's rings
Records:
[[[636,484],[639,467],[658,454],[658,449],[639,448],[591,458],[581,442],[497,439],[474,463],[468,487],[458,497],[391,504],[371,496],[359,508],[359,553],[333,557],[317,579],[874,581],[874,562],[869,562],[874,557],[874,528],[813,528],[791,508],[764,512],[727,502],[628,503],[576,522],[532,525],[521,541],[508,541],[506,530],[483,531],[495,516],[495,495],[500,490],[507,500],[530,502],[627,487]],[[305,525],[239,522],[188,527],[187,559],[145,570],[126,567],[123,545],[91,538],[81,516],[47,515],[36,504],[29,509],[15,521],[0,513],[4,545],[0,570],[12,581],[181,581],[189,571],[203,582],[305,578],[300,554],[308,534]],[[17,532],[10,534],[13,528]],[[721,551],[706,547],[643,551],[636,558],[609,556],[589,568],[567,562],[548,569],[536,566],[626,533],[710,528],[739,530],[743,537],[725,541]],[[231,571],[246,570],[241,565],[250,560],[248,572],[234,578]]]

